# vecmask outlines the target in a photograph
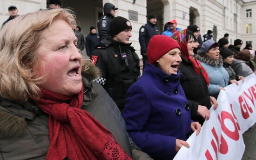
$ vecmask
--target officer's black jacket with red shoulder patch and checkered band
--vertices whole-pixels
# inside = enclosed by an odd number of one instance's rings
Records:
[[[93,51],[91,59],[95,60],[95,57],[97,61],[94,64],[100,68],[102,76],[94,81],[104,87],[122,110],[128,88],[141,74],[140,60],[135,49],[131,43],[126,45],[112,38],[104,38]]]

